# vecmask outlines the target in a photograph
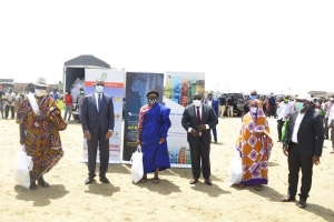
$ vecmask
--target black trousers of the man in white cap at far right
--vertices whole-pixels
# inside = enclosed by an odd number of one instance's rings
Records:
[[[303,148],[301,148],[303,149]],[[312,158],[304,158],[299,153],[298,144],[291,142],[288,148],[288,194],[296,195],[299,169],[302,169],[301,198],[307,199],[312,186],[313,163]]]

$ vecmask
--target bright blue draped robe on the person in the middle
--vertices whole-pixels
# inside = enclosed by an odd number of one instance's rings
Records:
[[[158,103],[151,108],[146,104],[140,109],[138,128],[143,128],[140,141],[144,173],[170,168],[167,148],[167,132],[171,125],[169,112],[170,109]],[[159,143],[160,138],[165,138],[166,142]]]

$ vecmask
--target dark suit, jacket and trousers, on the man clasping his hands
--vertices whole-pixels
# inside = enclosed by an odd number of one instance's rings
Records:
[[[210,129],[215,128],[218,124],[217,115],[214,109],[210,105],[202,104],[202,117],[200,123],[208,124],[209,129],[202,131],[202,137],[195,137],[188,132],[189,128],[197,130],[198,120],[196,114],[196,107],[189,104],[185,108],[181,124],[185,128],[187,133],[187,140],[190,147],[190,157],[191,157],[191,170],[194,178],[198,179],[200,176],[200,159],[203,167],[203,176],[209,179],[210,176],[210,142],[212,134]]]

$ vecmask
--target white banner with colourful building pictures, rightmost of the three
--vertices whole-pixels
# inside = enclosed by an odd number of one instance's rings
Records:
[[[165,105],[170,110],[171,127],[168,131],[167,144],[171,167],[191,168],[190,148],[187,132],[181,125],[185,107],[193,103],[195,92],[205,92],[205,73],[167,72],[165,88]]]

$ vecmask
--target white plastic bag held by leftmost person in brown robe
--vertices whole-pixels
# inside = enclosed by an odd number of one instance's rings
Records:
[[[24,150],[24,147],[23,147]],[[31,157],[27,155],[24,151],[19,151],[17,155],[16,173],[14,180],[24,188],[29,189],[30,185],[30,174],[33,163]]]

